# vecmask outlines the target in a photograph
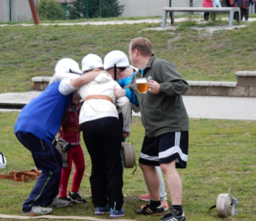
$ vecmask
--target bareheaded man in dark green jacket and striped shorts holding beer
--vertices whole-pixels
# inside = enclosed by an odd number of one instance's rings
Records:
[[[182,183],[176,168],[188,162],[188,113],[182,95],[189,86],[170,61],[152,55],[149,39],[132,39],[129,58],[138,72],[129,88],[136,93],[145,137],[140,152],[140,168],[150,193],[150,203],[138,214],[163,213],[159,196],[159,179],[155,166],[161,166],[172,199],[171,213],[161,220],[185,220],[182,209]],[[147,93],[138,93],[136,79],[148,79]],[[174,219],[175,218],[175,219]]]

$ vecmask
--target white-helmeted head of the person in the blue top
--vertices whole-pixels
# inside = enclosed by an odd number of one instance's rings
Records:
[[[82,75],[82,70],[80,70],[77,61],[71,58],[63,58],[57,61],[55,74],[49,82],[49,85],[53,84],[55,81],[61,81],[62,79],[75,79],[80,75]]]

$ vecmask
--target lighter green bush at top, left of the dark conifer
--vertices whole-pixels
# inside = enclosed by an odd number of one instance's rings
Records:
[[[40,20],[64,20],[66,15],[60,3],[54,0],[41,0],[37,12]]]

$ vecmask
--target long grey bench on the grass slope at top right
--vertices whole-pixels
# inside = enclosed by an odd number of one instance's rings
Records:
[[[162,21],[162,28],[165,28],[166,26],[166,20],[167,20],[167,13],[170,12],[171,17],[171,23],[174,25],[174,12],[229,12],[229,26],[233,25],[233,18],[234,13],[238,12],[239,17],[237,18],[237,21],[241,21],[241,12],[240,8],[237,7],[226,7],[226,8],[163,8],[163,21]]]

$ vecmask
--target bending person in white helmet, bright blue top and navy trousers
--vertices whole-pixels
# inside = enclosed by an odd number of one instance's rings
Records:
[[[73,59],[58,61],[49,86],[24,106],[15,123],[17,139],[32,153],[35,166],[42,171],[23,203],[24,215],[45,215],[53,211],[43,206],[69,205],[68,201],[56,198],[59,193],[62,157],[52,142],[60,129],[62,117],[71,104],[73,92],[82,84],[92,81],[100,72],[80,74],[79,65]]]

